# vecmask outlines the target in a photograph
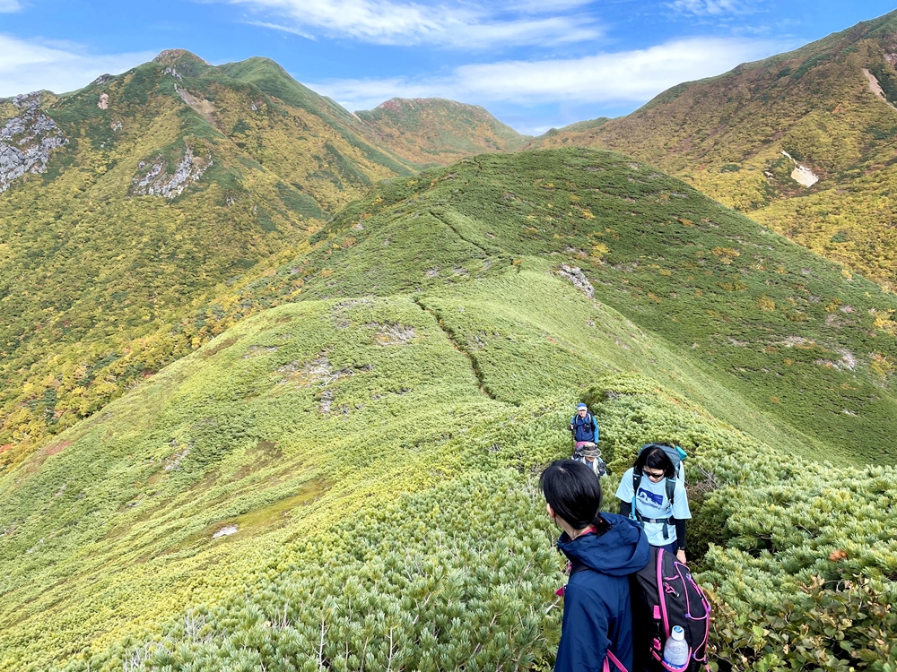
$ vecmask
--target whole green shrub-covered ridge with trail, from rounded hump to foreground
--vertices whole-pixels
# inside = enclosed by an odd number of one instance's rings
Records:
[[[580,399],[608,492],[692,455],[715,669],[897,662],[891,295],[609,152],[393,180],[311,242],[0,476],[0,668],[547,668],[533,477]]]

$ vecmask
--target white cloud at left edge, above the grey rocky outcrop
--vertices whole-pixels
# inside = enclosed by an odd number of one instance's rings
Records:
[[[0,96],[40,89],[57,93],[80,89],[100,74],[123,73],[153,56],[155,52],[93,55],[76,45],[0,35]]]

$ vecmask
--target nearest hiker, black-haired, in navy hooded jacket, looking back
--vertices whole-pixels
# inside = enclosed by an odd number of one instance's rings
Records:
[[[555,672],[632,668],[629,575],[649,560],[638,523],[601,513],[601,482],[578,461],[553,461],[539,478],[558,549],[570,560]]]

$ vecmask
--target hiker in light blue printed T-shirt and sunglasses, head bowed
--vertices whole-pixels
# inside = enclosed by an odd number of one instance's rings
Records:
[[[685,521],[692,517],[681,458],[674,464],[671,455],[684,455],[669,444],[642,447],[632,468],[626,470],[617,488],[621,515],[640,521],[652,547],[663,548],[685,563]],[[678,473],[677,473],[678,472]]]

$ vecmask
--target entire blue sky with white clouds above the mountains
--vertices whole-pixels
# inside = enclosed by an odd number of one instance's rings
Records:
[[[0,96],[74,90],[165,48],[269,56],[351,110],[483,105],[522,133],[619,116],[894,9],[883,0],[0,0]]]

